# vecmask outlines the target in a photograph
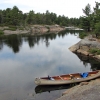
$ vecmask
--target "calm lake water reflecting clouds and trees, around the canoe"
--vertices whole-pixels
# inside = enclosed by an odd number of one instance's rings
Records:
[[[67,86],[38,87],[35,77],[99,69],[99,62],[68,49],[80,41],[78,35],[64,31],[0,37],[0,100],[55,100]]]

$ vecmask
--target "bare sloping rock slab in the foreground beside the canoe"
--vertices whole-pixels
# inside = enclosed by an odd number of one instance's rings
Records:
[[[100,100],[100,78],[67,89],[56,100]]]

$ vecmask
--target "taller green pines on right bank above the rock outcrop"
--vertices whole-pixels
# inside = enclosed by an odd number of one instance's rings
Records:
[[[96,37],[100,35],[100,3],[95,2],[95,7],[93,11],[91,10],[91,5],[87,4],[83,10],[85,16],[80,17],[80,26],[85,31],[92,31],[95,33]]]

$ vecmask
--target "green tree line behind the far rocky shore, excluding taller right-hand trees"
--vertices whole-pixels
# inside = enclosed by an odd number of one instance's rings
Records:
[[[61,26],[78,26],[78,18],[57,16],[48,10],[45,13],[35,13],[33,10],[23,13],[17,6],[0,10],[0,25],[22,26],[28,24],[58,24]]]

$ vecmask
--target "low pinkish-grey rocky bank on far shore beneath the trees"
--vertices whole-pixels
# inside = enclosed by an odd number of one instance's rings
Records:
[[[15,31],[9,30],[9,27],[0,27],[0,30],[4,32],[4,35],[11,35],[11,34],[32,34],[32,35],[42,35],[50,32],[59,32],[65,30],[64,27],[59,25],[30,25],[26,26],[21,30],[17,28]]]

